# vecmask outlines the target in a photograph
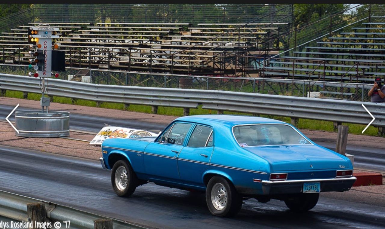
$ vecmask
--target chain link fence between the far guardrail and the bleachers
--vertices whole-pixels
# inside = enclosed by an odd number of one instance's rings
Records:
[[[28,75],[27,65],[0,65],[0,72]],[[82,75],[89,76],[91,83],[128,85],[138,87],[167,87],[185,89],[225,90],[271,95],[290,95],[325,99],[343,99],[370,102],[368,91],[371,84],[323,82],[313,80],[290,80],[271,78],[206,77],[196,75],[152,74],[100,69],[67,67],[59,79],[82,81]],[[49,80],[48,80],[49,82]]]

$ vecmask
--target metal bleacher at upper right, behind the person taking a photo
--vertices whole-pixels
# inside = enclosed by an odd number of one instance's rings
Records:
[[[373,21],[376,19],[375,21]],[[372,18],[333,36],[318,39],[316,45],[293,50],[291,55],[269,59],[260,75],[340,82],[372,82],[385,76],[385,25],[383,17]]]

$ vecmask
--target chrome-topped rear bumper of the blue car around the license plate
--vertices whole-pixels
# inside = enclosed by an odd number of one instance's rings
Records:
[[[356,177],[331,178],[331,179],[308,179],[288,181],[261,181],[263,195],[302,193],[303,183],[320,182],[321,192],[343,192],[348,191]]]

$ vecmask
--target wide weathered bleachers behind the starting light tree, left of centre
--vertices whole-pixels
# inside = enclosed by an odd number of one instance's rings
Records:
[[[2,32],[3,63],[28,64],[27,28],[38,24]],[[67,66],[179,74],[225,74],[234,50],[255,49],[258,40],[274,39],[280,27],[288,27],[286,22],[44,24],[60,29],[55,42],[65,50]]]

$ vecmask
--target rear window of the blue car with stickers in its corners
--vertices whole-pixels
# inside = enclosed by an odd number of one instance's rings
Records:
[[[240,125],[233,127],[233,133],[241,147],[311,144],[289,125]]]

